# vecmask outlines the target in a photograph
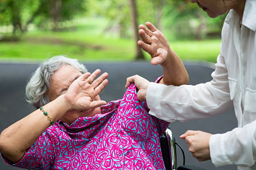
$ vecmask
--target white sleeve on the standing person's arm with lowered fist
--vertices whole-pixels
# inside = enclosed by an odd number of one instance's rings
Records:
[[[256,120],[224,134],[211,135],[211,161],[215,166],[253,166],[256,157]]]

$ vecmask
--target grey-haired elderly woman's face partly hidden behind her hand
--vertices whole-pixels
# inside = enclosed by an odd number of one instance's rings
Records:
[[[50,89],[47,92],[47,95],[50,98],[50,101],[55,100],[59,97],[59,95],[65,94],[67,92],[68,87],[70,84],[73,83],[73,81],[76,80],[76,78],[79,78],[82,73],[79,72],[78,69],[75,69],[71,67],[70,65],[63,65],[59,69],[57,69],[52,77],[50,82]],[[99,95],[97,95],[94,99],[94,101],[99,101]],[[101,112],[100,107],[97,107],[95,109],[88,109],[86,111],[70,111],[67,112],[61,120],[63,120],[65,123],[72,123],[74,120],[80,117],[91,117],[93,115],[99,114]]]

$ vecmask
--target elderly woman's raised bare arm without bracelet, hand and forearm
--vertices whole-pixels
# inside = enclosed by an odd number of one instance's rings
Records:
[[[163,67],[163,79],[159,82],[165,85],[180,86],[188,84],[188,72],[179,56],[171,50],[165,35],[153,24],[146,22],[140,25],[139,33],[142,38],[138,45],[151,55],[151,64]]]

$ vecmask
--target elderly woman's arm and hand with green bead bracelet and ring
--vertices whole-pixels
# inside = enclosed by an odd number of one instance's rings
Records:
[[[96,78],[99,73],[99,69],[92,74],[85,73],[76,81],[73,81],[65,95],[60,95],[54,101],[43,106],[51,120],[59,120],[70,110],[92,109],[105,104],[105,101],[93,101],[92,99],[107,86],[108,80],[106,78],[108,74],[102,74],[93,81],[93,84],[88,84],[87,80],[89,76],[90,80]],[[13,163],[18,162],[48,126],[50,126],[50,121],[39,109],[22,118],[22,120],[13,123],[1,132],[1,154]]]

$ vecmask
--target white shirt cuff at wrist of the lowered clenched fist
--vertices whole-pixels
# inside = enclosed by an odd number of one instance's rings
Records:
[[[226,166],[233,164],[225,152],[225,134],[211,135],[209,141],[211,162],[214,166]]]

